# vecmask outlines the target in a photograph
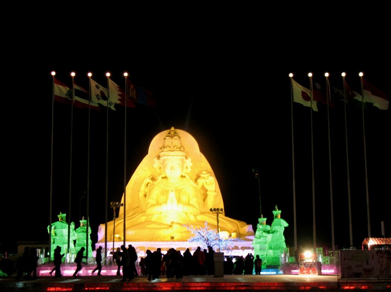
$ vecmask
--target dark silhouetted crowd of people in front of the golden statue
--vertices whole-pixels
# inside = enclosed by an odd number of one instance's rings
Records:
[[[96,249],[95,261],[96,267],[92,270],[92,274],[98,271],[97,275],[101,275],[102,270],[102,247]],[[81,247],[75,258],[77,264],[73,276],[78,276],[82,270],[82,260],[87,259],[84,255],[85,247]],[[50,272],[54,277],[61,277],[61,264],[64,253],[61,253],[61,247],[57,246],[54,250],[54,268]],[[197,247],[194,253],[187,248],[183,254],[180,250],[170,248],[166,253],[162,253],[161,248],[151,251],[147,249],[146,256],[141,257],[138,265],[140,266],[140,275],[148,276],[148,280],[154,280],[159,277],[167,278],[183,278],[186,275],[214,275],[215,262],[212,247],[201,249]],[[136,268],[137,251],[135,247],[122,245],[115,252],[111,252],[113,263],[117,266],[117,276],[122,276],[122,282],[127,282],[138,276]],[[22,256],[17,262],[17,276],[19,281],[37,279],[37,250],[35,247],[25,247]],[[260,274],[262,260],[257,255],[256,259],[251,253],[246,257],[237,257],[234,261],[233,257],[227,257],[223,263],[224,274]],[[121,274],[122,271],[122,274]]]

